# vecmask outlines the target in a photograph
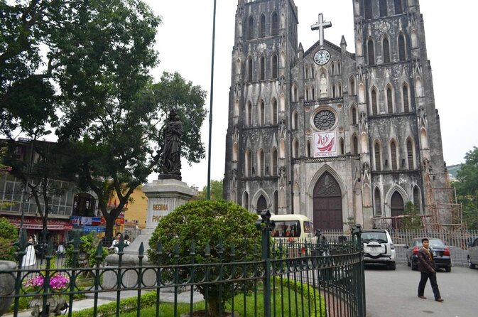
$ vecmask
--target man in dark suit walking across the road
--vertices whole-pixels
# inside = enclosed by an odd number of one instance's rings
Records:
[[[435,301],[443,301],[440,296],[440,290],[438,289],[437,284],[437,272],[435,271],[435,262],[433,261],[433,254],[428,250],[430,241],[427,238],[422,239],[423,247],[418,250],[418,270],[420,270],[420,283],[418,284],[418,297],[420,299],[426,299],[423,296],[425,292],[425,285],[427,284],[428,279],[430,279],[430,284],[432,285],[433,295],[435,295]]]

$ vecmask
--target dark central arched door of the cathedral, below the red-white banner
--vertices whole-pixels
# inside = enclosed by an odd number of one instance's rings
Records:
[[[314,228],[340,229],[342,220],[342,191],[339,183],[329,172],[320,176],[314,187]]]

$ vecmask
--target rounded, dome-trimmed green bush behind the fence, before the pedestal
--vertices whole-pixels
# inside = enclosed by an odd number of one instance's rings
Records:
[[[239,205],[224,200],[195,200],[176,208],[172,213],[163,217],[158,227],[149,240],[148,257],[152,263],[158,262],[156,245],[161,241],[163,255],[161,265],[191,263],[191,246],[195,244],[194,262],[197,264],[219,262],[219,257],[224,263],[232,262],[231,248],[234,247],[234,262],[252,261],[254,250],[261,246],[261,232],[256,229],[257,215],[249,213]],[[219,255],[219,245],[222,242],[223,254]],[[178,245],[178,253],[175,252]],[[206,257],[206,246],[210,246],[210,257]],[[179,257],[175,257],[179,255]],[[223,276],[234,279],[242,274],[241,270],[232,273],[230,267],[224,267]],[[210,276],[217,276],[217,267],[210,267]],[[189,270],[180,270],[179,279],[187,280]],[[197,267],[195,280],[204,278],[204,268]],[[234,275],[235,274],[235,275]],[[248,272],[247,274],[251,274]],[[167,278],[167,276],[165,276]],[[212,277],[210,277],[212,278]],[[219,306],[231,299],[236,291],[251,290],[254,284],[241,283],[210,284],[207,289],[209,316],[219,316]],[[222,287],[219,297],[219,287]],[[198,285],[201,294],[206,294],[206,286]]]

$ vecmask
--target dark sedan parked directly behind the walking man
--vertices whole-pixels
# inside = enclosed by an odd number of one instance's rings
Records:
[[[423,237],[418,237],[413,240],[410,245],[405,245],[407,265],[411,267],[413,271],[418,269],[418,250],[422,247]],[[450,254],[450,249],[445,246],[442,240],[438,238],[428,238],[430,241],[430,246],[428,249],[433,254],[433,259],[435,260],[435,267],[445,269],[446,272],[451,272],[452,270],[452,257]]]

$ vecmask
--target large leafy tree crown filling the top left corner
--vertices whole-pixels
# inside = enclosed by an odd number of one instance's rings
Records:
[[[10,137],[19,127],[36,139],[72,104],[62,121],[79,134],[94,117],[85,105],[104,103],[109,82],[141,85],[156,65],[161,20],[141,0],[3,0],[0,17],[0,129]]]

